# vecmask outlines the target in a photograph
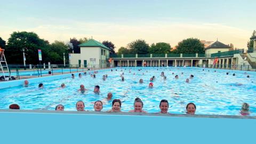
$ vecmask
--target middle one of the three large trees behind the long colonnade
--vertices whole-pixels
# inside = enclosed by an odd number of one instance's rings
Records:
[[[149,53],[152,54],[162,54],[162,53],[170,53],[171,45],[169,43],[156,43],[151,44],[149,47]]]

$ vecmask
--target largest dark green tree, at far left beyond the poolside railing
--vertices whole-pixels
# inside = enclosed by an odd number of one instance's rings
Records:
[[[37,64],[39,63],[37,54],[38,49],[42,49],[42,58],[44,62],[44,56],[47,55],[45,51],[47,47],[49,47],[49,42],[40,39],[36,33],[14,31],[8,39],[5,56],[8,63],[23,63],[22,49],[25,49],[26,62]]]

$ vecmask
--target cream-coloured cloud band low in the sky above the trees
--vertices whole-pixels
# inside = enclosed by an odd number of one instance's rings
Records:
[[[172,22],[166,21],[133,21],[129,22],[83,22],[73,20],[52,20],[51,22],[28,18],[34,22],[29,28],[1,26],[1,35],[9,38],[13,31],[34,31],[39,37],[53,42],[68,42],[70,37],[93,37],[97,41],[111,41],[117,49],[126,46],[135,39],[145,39],[149,44],[157,42],[170,43],[175,46],[182,39],[194,37],[206,41],[215,41],[235,47],[246,48],[252,31],[226,26],[223,23]],[[57,22],[58,21],[58,22]],[[51,23],[51,24],[49,24]]]

